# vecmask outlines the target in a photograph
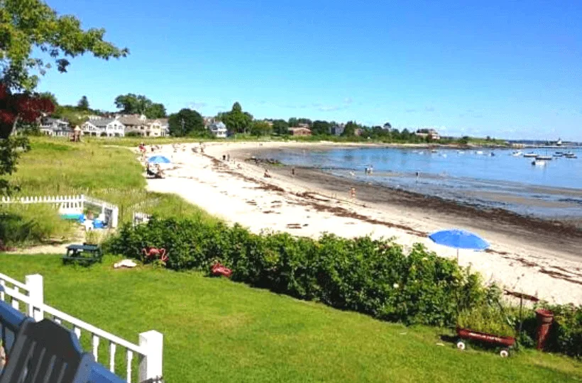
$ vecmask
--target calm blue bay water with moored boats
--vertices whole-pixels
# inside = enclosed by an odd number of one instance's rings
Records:
[[[514,150],[402,148],[285,149],[270,153],[286,165],[314,167],[340,177],[440,196],[542,218],[582,219],[582,149],[535,149],[539,155],[570,151],[545,166]],[[373,173],[366,175],[366,167]]]

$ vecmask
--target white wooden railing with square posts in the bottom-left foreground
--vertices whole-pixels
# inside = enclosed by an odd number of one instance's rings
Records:
[[[131,383],[133,374],[132,362],[134,355],[138,357],[138,381],[146,379],[158,379],[162,377],[163,335],[158,331],[147,331],[139,334],[139,343],[128,342],[116,335],[108,333],[101,328],[92,326],[74,316],[59,311],[44,303],[43,276],[40,274],[27,275],[25,283],[18,282],[8,275],[0,273],[0,285],[5,292],[0,292],[0,300],[11,303],[16,310],[23,311],[35,321],[45,317],[52,319],[63,326],[72,328],[79,340],[83,332],[91,336],[92,353],[99,362],[99,345],[101,340],[109,343],[109,361],[101,362],[109,365],[109,370],[115,373],[115,356],[118,348],[125,350],[126,380]],[[21,304],[23,307],[21,307]]]

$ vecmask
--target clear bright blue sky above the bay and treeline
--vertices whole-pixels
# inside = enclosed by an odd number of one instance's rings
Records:
[[[49,0],[127,47],[40,90],[114,110],[291,116],[447,135],[582,140],[582,1]]]

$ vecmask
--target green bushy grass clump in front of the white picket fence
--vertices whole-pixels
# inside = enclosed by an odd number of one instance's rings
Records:
[[[57,209],[44,204],[10,204],[0,207],[0,240],[6,245],[41,243],[49,238],[69,238],[74,224],[60,218]]]

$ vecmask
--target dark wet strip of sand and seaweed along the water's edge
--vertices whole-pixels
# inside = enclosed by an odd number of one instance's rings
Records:
[[[295,145],[285,145],[285,149],[293,147]],[[326,143],[310,145],[310,148],[320,150],[337,147],[338,145],[327,145]],[[309,149],[306,145],[299,145],[297,148]],[[406,148],[418,148],[418,146],[411,147],[407,145]],[[248,160],[249,157],[253,156],[266,158],[269,157],[268,152],[281,149],[255,146],[252,149],[236,150],[231,152],[231,155],[238,160]],[[253,161],[249,162],[249,164],[260,168],[268,168],[273,174],[283,177],[288,177],[291,169],[291,166],[285,164],[274,166],[268,163],[254,164]],[[400,209],[412,209],[418,213],[443,216],[452,221],[466,223],[466,226],[476,226],[478,229],[495,231],[503,235],[519,235],[524,240],[531,243],[539,243],[539,245],[546,245],[551,241],[555,242],[556,238],[560,238],[564,250],[573,254],[579,253],[579,249],[582,248],[582,219],[556,221],[525,216],[506,209],[487,208],[476,204],[444,199],[439,196],[429,196],[414,191],[395,189],[388,185],[380,186],[356,179],[339,177],[316,167],[295,167],[295,169],[295,179],[297,181],[312,185],[317,189],[324,189],[332,194],[346,194],[348,189],[356,187],[358,199],[370,204],[383,204]],[[570,191],[576,194],[580,193],[576,189],[570,189]],[[572,241],[572,245],[567,244],[569,241]],[[580,258],[574,257],[573,259],[579,260]]]

